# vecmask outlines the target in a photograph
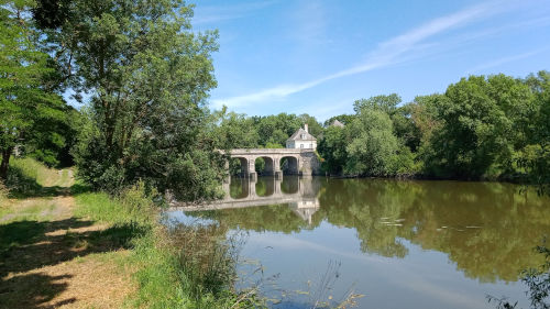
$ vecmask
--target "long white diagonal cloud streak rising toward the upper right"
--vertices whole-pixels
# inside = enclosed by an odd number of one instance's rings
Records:
[[[212,101],[213,106],[215,108],[220,108],[224,104],[231,108],[235,108],[266,100],[282,100],[287,96],[316,87],[329,80],[365,73],[375,68],[381,68],[399,63],[404,58],[410,58],[410,55],[406,54],[410,51],[420,48],[426,44],[425,41],[432,36],[441,34],[446,31],[465,26],[474,21],[486,19],[493,14],[502,12],[506,9],[509,10],[512,8],[510,5],[504,5],[504,3],[510,2],[485,2],[446,16],[431,20],[426,24],[422,24],[416,29],[413,29],[378,44],[378,46],[373,52],[367,54],[366,59],[363,63],[358,64],[356,66],[301,84],[279,85],[253,93],[235,96],[226,99],[217,99]]]

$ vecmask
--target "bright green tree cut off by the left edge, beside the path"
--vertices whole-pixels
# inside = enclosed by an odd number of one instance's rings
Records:
[[[0,7],[0,178],[8,177],[10,156],[30,145],[46,163],[56,163],[55,148],[66,142],[56,132],[66,122],[61,96],[45,87],[52,73],[48,55],[36,44],[36,33],[25,16],[32,1],[6,2]],[[61,130],[63,131],[63,130]],[[54,151],[52,151],[52,148]]]

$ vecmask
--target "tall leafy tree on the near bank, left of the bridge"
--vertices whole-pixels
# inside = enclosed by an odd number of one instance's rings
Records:
[[[77,92],[89,92],[79,176],[116,189],[142,178],[177,197],[213,197],[223,163],[206,132],[216,33],[190,31],[180,0],[70,1],[45,31]]]

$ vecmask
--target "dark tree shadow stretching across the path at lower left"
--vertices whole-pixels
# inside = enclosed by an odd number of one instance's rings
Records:
[[[64,304],[47,305],[67,288],[63,280],[72,275],[26,272],[91,253],[129,249],[132,239],[146,232],[133,223],[107,230],[98,230],[92,224],[92,221],[70,218],[0,225],[0,308],[56,308],[76,301],[66,299]]]

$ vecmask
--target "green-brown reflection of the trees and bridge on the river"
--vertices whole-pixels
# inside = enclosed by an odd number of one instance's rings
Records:
[[[285,176],[233,179],[226,191],[212,205],[218,211],[187,214],[257,232],[296,233],[327,221],[354,229],[364,253],[403,258],[416,244],[485,283],[516,282],[520,269],[539,265],[532,247],[550,235],[550,200],[509,184]]]

